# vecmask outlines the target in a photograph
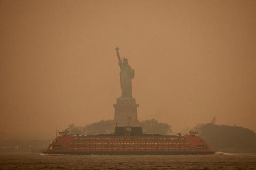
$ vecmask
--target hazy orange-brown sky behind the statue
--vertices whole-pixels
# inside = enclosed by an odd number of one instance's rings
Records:
[[[256,131],[255,18],[256,1],[0,0],[0,137],[113,119],[116,46],[139,120]]]

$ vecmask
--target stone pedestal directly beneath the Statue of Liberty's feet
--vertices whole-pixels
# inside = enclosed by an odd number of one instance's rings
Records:
[[[116,99],[114,120],[117,126],[139,126],[135,98],[119,97]]]

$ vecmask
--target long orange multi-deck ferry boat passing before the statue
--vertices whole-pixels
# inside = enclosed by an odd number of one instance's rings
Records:
[[[61,132],[44,154],[178,155],[213,154],[194,132],[186,135],[143,134],[141,127],[116,127],[114,134],[70,135]]]

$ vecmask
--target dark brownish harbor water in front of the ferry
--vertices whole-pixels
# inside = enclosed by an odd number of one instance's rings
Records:
[[[256,169],[256,154],[44,155],[0,154],[0,169]]]

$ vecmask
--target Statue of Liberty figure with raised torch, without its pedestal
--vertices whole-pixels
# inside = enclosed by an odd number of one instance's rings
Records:
[[[118,65],[120,67],[120,85],[122,89],[122,98],[132,98],[132,79],[134,78],[134,70],[128,64],[127,58],[123,58],[123,61],[119,55],[119,48],[116,47],[116,55],[118,59]]]

